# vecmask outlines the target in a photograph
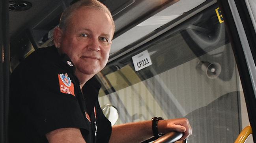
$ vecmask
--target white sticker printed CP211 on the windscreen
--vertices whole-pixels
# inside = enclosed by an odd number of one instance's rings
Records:
[[[133,65],[135,67],[135,71],[139,71],[152,65],[148,50],[141,52],[140,54],[136,54],[132,57]]]

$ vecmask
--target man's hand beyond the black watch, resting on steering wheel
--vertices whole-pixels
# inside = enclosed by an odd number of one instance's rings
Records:
[[[167,119],[158,121],[158,132],[168,133],[171,131],[183,132],[179,140],[184,140],[192,134],[191,126],[187,118]]]

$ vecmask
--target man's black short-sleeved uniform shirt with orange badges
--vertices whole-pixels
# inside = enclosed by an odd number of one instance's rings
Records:
[[[45,134],[68,127],[79,128],[86,143],[108,143],[111,123],[99,106],[101,85],[92,78],[83,95],[74,72],[54,46],[37,49],[19,64],[10,78],[9,143],[48,143]]]

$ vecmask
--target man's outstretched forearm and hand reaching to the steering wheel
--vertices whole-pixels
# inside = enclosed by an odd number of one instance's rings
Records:
[[[158,131],[161,133],[171,131],[183,132],[183,136],[180,140],[192,134],[191,126],[186,118],[159,120]],[[112,127],[109,143],[140,143],[152,136],[152,121],[126,123]]]

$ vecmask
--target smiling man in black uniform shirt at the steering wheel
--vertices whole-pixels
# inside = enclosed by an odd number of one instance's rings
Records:
[[[107,64],[113,34],[112,16],[96,0],[65,10],[55,47],[38,49],[11,75],[10,143],[140,143],[154,136],[152,121],[111,127],[99,107],[93,76]],[[155,134],[191,135],[185,118],[157,121]]]

